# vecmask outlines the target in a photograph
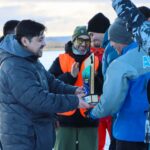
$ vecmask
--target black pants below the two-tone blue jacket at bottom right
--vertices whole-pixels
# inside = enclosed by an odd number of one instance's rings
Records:
[[[116,140],[116,150],[148,150],[148,144]]]

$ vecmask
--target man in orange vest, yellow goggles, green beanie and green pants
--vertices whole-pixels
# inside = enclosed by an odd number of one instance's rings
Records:
[[[65,53],[60,54],[49,71],[59,80],[75,86],[83,86],[82,71],[86,58],[90,56],[90,37],[86,26],[77,26],[72,41],[65,46]],[[102,72],[95,56],[95,94],[102,93]],[[55,150],[97,150],[98,120],[86,118],[85,109],[58,114],[59,127]]]

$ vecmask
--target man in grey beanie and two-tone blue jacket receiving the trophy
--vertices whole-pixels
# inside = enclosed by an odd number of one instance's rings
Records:
[[[144,137],[148,135],[145,122],[149,108],[150,67],[143,67],[142,62],[146,52],[136,46],[126,23],[120,18],[110,26],[108,35],[110,44],[119,55],[124,55],[109,65],[100,103],[90,116],[96,119],[116,114],[113,125],[116,150],[147,150]]]

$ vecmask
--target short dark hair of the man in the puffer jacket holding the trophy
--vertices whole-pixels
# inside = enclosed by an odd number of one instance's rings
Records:
[[[21,38],[27,37],[32,39],[34,36],[39,36],[46,27],[33,20],[22,20],[16,27],[16,39],[21,44]]]

